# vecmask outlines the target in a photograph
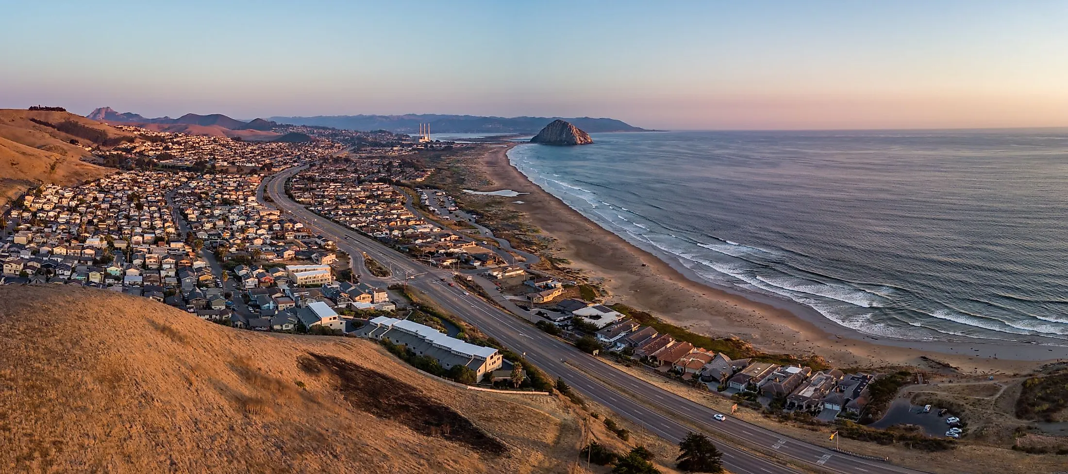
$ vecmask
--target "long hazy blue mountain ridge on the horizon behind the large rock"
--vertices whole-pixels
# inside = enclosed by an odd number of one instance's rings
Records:
[[[319,115],[315,117],[270,117],[280,124],[333,127],[345,130],[389,130],[415,133],[420,124],[430,124],[431,133],[537,133],[543,127],[557,119],[566,120],[591,133],[644,132],[614,118],[562,118],[562,117],[482,117],[475,115]]]

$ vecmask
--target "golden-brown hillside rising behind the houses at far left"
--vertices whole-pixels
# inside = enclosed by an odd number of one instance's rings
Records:
[[[67,112],[0,110],[0,206],[38,183],[70,185],[113,169],[81,161],[82,146],[113,146],[131,133]]]

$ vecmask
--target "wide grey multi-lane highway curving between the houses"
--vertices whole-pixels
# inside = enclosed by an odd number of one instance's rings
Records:
[[[660,389],[644,380],[622,372],[597,358],[576,349],[531,325],[529,322],[508,313],[456,287],[440,281],[450,278],[451,272],[427,267],[406,256],[362,236],[355,230],[320,217],[304,209],[286,196],[285,180],[303,169],[303,166],[279,173],[266,182],[266,193],[282,211],[308,225],[337,243],[339,248],[351,256],[365,251],[382,264],[391,265],[408,275],[425,274],[408,280],[435,300],[443,309],[458,315],[480,330],[500,341],[516,353],[525,355],[532,363],[552,377],[562,377],[583,396],[599,403],[638,424],[650,434],[677,443],[688,432],[700,427],[713,437],[717,446],[724,453],[724,467],[739,474],[781,474],[799,472],[870,473],[870,474],[921,474],[886,462],[867,460],[831,451],[769,429],[742,422],[729,414],[726,421],[718,422],[712,416],[719,411],[694,403],[688,398]],[[396,274],[394,274],[396,275]],[[394,277],[399,283],[404,276]],[[587,374],[596,374],[591,376]],[[650,407],[657,407],[653,409]],[[668,416],[665,413],[674,413]],[[682,420],[688,421],[684,424]],[[692,426],[691,426],[692,425]],[[724,439],[725,438],[725,439]],[[729,440],[729,441],[728,441]],[[749,448],[745,451],[741,447]],[[750,453],[770,455],[757,457]],[[775,457],[779,459],[771,459]],[[781,459],[791,459],[787,465]]]

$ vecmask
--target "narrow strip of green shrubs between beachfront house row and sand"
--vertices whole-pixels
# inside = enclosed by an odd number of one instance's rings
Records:
[[[802,364],[808,365],[814,371],[822,371],[824,369],[830,369],[827,361],[818,356],[813,356],[808,359],[801,359],[789,354],[765,354],[753,348],[748,342],[742,341],[737,338],[709,338],[707,336],[697,334],[690,332],[686,328],[680,328],[678,326],[664,323],[659,317],[649,314],[648,312],[637,310],[624,304],[611,305],[611,308],[630,316],[639,324],[649,326],[659,332],[671,334],[673,338],[679,341],[686,341],[697,347],[704,347],[709,350],[714,350],[717,353],[726,354],[732,359],[744,359],[752,358],[760,362],[772,362],[782,365],[790,364]]]

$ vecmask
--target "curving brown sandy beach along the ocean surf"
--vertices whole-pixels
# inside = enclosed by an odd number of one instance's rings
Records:
[[[493,184],[478,191],[513,190],[522,203],[501,199],[530,224],[556,240],[555,254],[568,266],[600,282],[609,301],[649,311],[692,331],[737,336],[768,353],[816,354],[835,366],[914,365],[930,369],[921,356],[949,363],[961,373],[1026,373],[1056,359],[1068,347],[1002,341],[907,341],[874,338],[839,326],[794,301],[713,288],[678,262],[665,262],[601,228],[545,192],[511,165],[513,145],[491,146],[472,160],[474,171]]]

